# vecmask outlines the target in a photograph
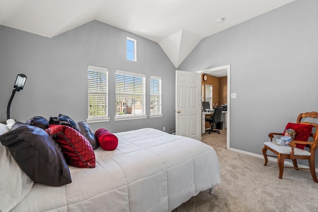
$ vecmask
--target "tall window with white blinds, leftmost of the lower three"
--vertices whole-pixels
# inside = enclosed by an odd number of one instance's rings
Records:
[[[109,121],[108,69],[88,66],[88,119],[87,123]]]

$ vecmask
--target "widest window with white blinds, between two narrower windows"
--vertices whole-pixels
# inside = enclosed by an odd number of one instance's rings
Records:
[[[116,70],[115,121],[147,118],[145,113],[145,75]]]

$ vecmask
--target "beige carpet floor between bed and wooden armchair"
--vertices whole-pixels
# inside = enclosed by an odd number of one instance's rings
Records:
[[[221,185],[213,195],[200,192],[172,212],[318,212],[318,183],[307,170],[284,169],[277,163],[226,149],[226,130],[204,134],[219,158]],[[261,154],[261,149],[259,149]]]

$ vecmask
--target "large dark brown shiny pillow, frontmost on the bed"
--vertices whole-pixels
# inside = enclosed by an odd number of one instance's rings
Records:
[[[9,148],[14,160],[34,182],[48,186],[72,182],[63,152],[41,128],[22,125],[2,134],[0,142]]]

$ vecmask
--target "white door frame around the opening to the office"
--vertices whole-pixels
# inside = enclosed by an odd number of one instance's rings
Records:
[[[220,66],[212,69],[197,71],[197,73],[211,73],[213,71],[227,71],[227,149],[230,149],[230,111],[231,111],[231,65]],[[201,94],[202,96],[202,94]]]

